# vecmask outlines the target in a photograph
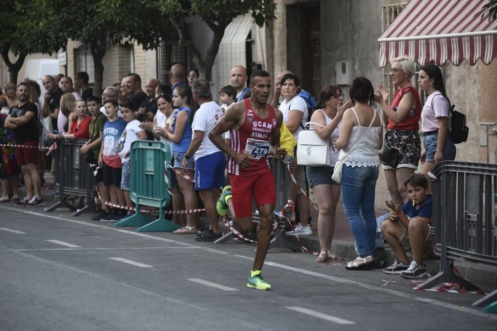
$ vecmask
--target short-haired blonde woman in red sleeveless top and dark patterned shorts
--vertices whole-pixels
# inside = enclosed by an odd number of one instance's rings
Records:
[[[390,106],[387,104],[389,90],[382,84],[378,84],[377,89],[381,98],[376,98],[376,101],[383,110],[384,122],[387,125],[382,154],[383,169],[392,201],[400,205],[408,200],[404,182],[417,169],[421,156],[421,140],[417,133],[421,100],[411,83],[415,71],[413,60],[405,56],[392,60],[390,78],[398,90]]]

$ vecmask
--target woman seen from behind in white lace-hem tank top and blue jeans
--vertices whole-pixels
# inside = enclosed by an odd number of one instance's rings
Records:
[[[381,115],[372,107],[374,89],[369,79],[355,78],[349,93],[355,106],[343,114],[340,137],[335,140],[336,147],[340,149],[338,159],[343,160],[343,206],[358,254],[345,268],[365,270],[370,269],[374,262],[374,199],[380,166],[378,149],[383,145],[383,125]]]

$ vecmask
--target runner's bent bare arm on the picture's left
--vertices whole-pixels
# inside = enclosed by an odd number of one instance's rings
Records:
[[[240,128],[244,119],[245,104],[243,102],[232,104],[228,107],[226,113],[223,115],[218,124],[209,133],[209,139],[211,139],[212,143],[225,152],[229,157],[233,157],[241,167],[246,167],[250,164],[248,155],[237,153],[229,145],[227,145],[224,142],[223,133],[228,130]]]

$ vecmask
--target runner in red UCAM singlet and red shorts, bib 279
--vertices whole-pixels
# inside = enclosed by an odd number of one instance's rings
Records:
[[[271,93],[271,78],[267,71],[255,70],[250,76],[249,87],[251,97],[228,108],[209,138],[229,156],[228,172],[240,232],[246,234],[251,229],[252,198],[259,211],[257,250],[247,287],[270,290],[271,285],[261,276],[261,268],[271,240],[276,189],[266,156],[268,152],[279,159],[286,155],[285,150],[279,148],[283,115],[267,104]],[[231,130],[231,147],[223,139],[223,132],[228,130]],[[273,147],[270,148],[270,144]]]

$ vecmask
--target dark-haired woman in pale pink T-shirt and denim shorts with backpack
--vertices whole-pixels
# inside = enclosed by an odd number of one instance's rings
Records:
[[[419,88],[428,97],[421,112],[421,130],[424,132],[424,151],[421,163],[424,163],[422,174],[443,160],[454,160],[456,146],[450,139],[450,101],[445,92],[442,71],[435,65],[427,65],[419,69]]]

